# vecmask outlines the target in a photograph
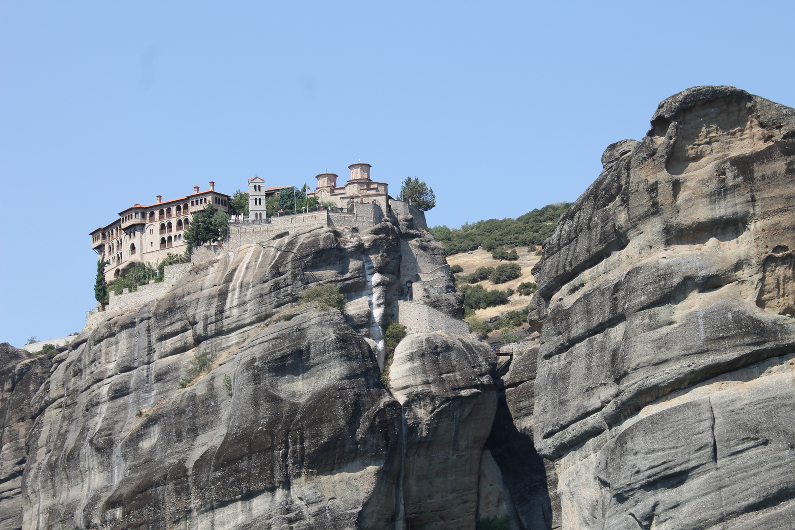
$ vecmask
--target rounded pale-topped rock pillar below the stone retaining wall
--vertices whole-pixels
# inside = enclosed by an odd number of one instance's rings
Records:
[[[474,530],[495,366],[491,348],[471,339],[417,333],[397,346],[390,388],[403,405],[406,528]]]

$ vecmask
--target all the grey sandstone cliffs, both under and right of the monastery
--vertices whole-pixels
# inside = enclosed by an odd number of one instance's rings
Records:
[[[0,529],[795,528],[793,134],[733,87],[666,99],[545,242],[510,360],[425,330],[389,366],[406,281],[462,308],[410,216],[219,253],[52,359],[0,345]]]

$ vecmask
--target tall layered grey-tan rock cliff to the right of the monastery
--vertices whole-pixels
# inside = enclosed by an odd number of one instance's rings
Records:
[[[795,110],[666,99],[533,274],[563,528],[795,528]]]

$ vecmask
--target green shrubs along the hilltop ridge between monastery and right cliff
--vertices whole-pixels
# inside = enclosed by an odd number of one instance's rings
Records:
[[[541,245],[546,238],[549,238],[560,215],[563,215],[569,205],[570,203],[548,204],[516,219],[467,222],[458,229],[444,225],[434,226],[430,231],[436,241],[444,245],[444,252],[448,256],[477,250],[479,246],[489,251],[515,246],[526,246],[530,250],[535,250],[537,245]]]

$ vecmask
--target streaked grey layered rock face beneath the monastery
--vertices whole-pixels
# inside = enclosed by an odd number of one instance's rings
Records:
[[[379,380],[401,285],[435,256],[444,265],[410,219],[292,234],[196,266],[156,304],[108,311],[52,362],[0,352],[0,524],[474,529],[491,349],[409,335],[394,393]],[[310,283],[339,285],[355,315],[297,304]],[[451,283],[424,300],[455,314],[461,298]],[[212,369],[180,390],[203,357]]]

